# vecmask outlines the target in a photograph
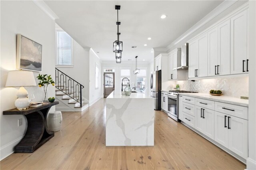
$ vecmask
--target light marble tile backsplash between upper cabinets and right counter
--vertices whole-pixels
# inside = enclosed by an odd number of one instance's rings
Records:
[[[202,79],[195,81],[172,81],[169,88],[173,89],[176,84],[180,85],[180,90],[196,91],[198,93],[209,93],[211,89],[221,90],[223,95],[237,97],[249,95],[249,79],[245,77]]]

